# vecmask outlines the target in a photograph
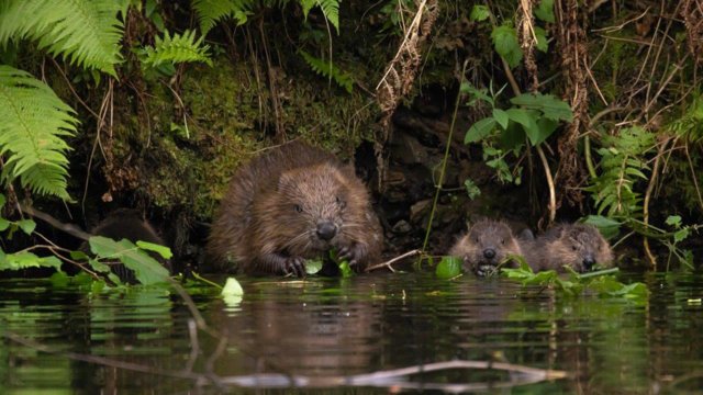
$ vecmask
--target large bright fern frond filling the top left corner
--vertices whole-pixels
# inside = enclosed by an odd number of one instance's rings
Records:
[[[0,46],[30,38],[71,64],[116,76],[126,0],[0,0]]]

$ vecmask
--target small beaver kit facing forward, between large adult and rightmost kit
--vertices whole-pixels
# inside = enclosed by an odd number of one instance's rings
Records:
[[[484,276],[495,272],[509,255],[521,256],[522,250],[506,224],[481,219],[457,240],[449,255],[462,258],[465,270]],[[515,266],[512,260],[507,261],[507,264]]]

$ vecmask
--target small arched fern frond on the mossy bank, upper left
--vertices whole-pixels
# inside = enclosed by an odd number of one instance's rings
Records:
[[[196,31],[185,31],[180,35],[175,33],[172,37],[166,31],[163,40],[156,37],[155,45],[145,48],[143,63],[149,67],[187,61],[203,61],[212,66],[208,54],[210,46],[203,45],[202,40],[203,37],[196,40]]]

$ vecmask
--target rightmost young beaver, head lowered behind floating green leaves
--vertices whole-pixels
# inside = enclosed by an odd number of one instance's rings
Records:
[[[593,225],[559,224],[537,239],[521,237],[518,241],[534,271],[563,272],[563,266],[569,266],[583,273],[613,261],[611,246]]]

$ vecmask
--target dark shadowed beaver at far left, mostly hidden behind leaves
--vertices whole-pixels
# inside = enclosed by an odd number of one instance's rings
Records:
[[[118,208],[110,213],[104,219],[102,219],[92,230],[94,236],[104,236],[111,239],[120,241],[121,239],[127,239],[132,242],[138,240],[153,242],[165,246],[164,240],[158,236],[152,225],[144,218],[138,211],[132,208]],[[81,246],[82,250],[89,250],[88,242]],[[170,262],[163,259],[160,256],[152,255],[159,263],[161,263],[169,271],[171,270]],[[136,278],[134,272],[124,267],[124,264],[112,264],[112,272],[115,273],[120,280],[127,283],[135,283]]]

